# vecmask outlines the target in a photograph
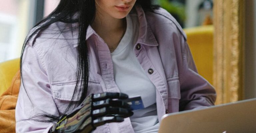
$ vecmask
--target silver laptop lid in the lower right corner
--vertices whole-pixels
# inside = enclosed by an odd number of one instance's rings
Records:
[[[256,133],[256,99],[166,114],[158,133]]]

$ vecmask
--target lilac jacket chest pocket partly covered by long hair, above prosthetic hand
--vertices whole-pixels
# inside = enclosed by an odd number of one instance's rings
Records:
[[[62,114],[65,111],[69,102],[72,100],[75,86],[76,86],[76,80],[51,83],[53,100],[60,114]],[[79,89],[80,89],[80,84],[78,85],[77,92],[79,92]],[[91,95],[92,93],[97,94],[102,92],[103,92],[102,87],[99,82],[96,82],[96,81],[88,82],[87,96]],[[78,101],[80,100],[80,98],[81,98],[81,95],[79,95],[78,93],[78,95],[74,97],[72,101]]]

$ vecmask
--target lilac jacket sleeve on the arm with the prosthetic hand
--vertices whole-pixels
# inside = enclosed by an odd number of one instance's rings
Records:
[[[16,104],[16,133],[47,133],[53,123],[40,114],[59,116],[54,103],[44,64],[33,46],[23,54],[22,79]],[[36,120],[36,121],[35,121]]]

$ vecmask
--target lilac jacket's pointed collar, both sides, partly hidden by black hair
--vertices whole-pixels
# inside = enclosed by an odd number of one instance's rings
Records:
[[[153,34],[150,26],[147,23],[145,12],[143,11],[142,7],[137,5],[135,6],[135,9],[137,11],[138,20],[139,20],[139,36],[137,43],[148,45],[148,46],[158,46],[158,42],[155,38],[155,35]],[[77,27],[77,23],[73,23],[72,27]],[[89,25],[87,28],[87,34],[86,34],[86,40],[90,38],[93,34],[97,33],[92,29],[92,27]],[[74,41],[74,47],[78,46],[78,29],[73,31],[73,38]]]

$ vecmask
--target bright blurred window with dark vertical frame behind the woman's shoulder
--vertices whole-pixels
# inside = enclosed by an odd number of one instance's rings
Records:
[[[49,2],[50,1],[50,2]],[[0,62],[19,58],[23,42],[30,29],[59,0],[0,0]],[[49,8],[50,7],[50,8]]]

